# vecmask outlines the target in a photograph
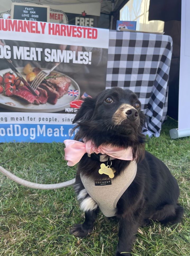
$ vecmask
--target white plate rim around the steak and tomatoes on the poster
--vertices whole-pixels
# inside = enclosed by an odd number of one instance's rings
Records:
[[[21,73],[23,77],[26,77],[24,73],[22,72],[23,68],[17,68],[17,70]],[[0,76],[3,76],[3,74],[11,72],[12,70],[10,68],[0,70]],[[56,73],[62,74],[60,72],[55,71]],[[65,74],[62,74],[66,76]],[[16,75],[15,75],[16,76]],[[80,88],[78,83],[76,83],[71,77],[66,76],[70,78],[71,85],[69,86],[69,90],[78,90],[79,95],[78,96],[69,96],[68,94],[63,95],[60,99],[57,100],[57,103],[55,105],[52,105],[50,103],[46,104],[29,104],[26,103],[24,100],[17,98],[16,96],[7,97],[4,96],[4,93],[0,94],[0,107],[10,109],[12,111],[21,111],[21,112],[58,112],[62,111],[67,107],[70,107],[70,101],[77,100],[80,98]],[[12,102],[14,105],[8,105],[7,102]]]

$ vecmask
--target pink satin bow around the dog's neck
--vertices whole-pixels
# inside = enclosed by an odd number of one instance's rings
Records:
[[[108,156],[118,158],[121,160],[133,160],[132,148],[127,149],[113,147],[112,145],[100,145],[95,148],[92,141],[80,142],[77,140],[64,140],[66,145],[65,150],[65,160],[67,160],[67,165],[73,166],[77,164],[85,153],[101,153]]]

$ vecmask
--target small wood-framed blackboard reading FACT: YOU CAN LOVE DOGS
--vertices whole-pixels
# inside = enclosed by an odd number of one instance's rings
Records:
[[[12,3],[11,19],[49,22],[49,6]]]

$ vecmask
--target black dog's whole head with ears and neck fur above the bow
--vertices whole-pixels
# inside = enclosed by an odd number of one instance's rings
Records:
[[[101,143],[104,140],[115,143],[114,137],[135,141],[141,134],[144,115],[134,92],[113,87],[95,98],[86,98],[73,122],[78,123],[82,138],[95,140],[96,144],[99,144],[97,138]]]

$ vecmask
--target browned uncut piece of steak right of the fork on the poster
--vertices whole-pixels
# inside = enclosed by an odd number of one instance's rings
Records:
[[[71,80],[66,76],[48,78],[43,82],[50,87],[55,87],[56,91],[59,93],[59,98],[68,92],[69,86],[71,85]]]

